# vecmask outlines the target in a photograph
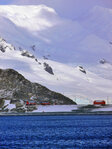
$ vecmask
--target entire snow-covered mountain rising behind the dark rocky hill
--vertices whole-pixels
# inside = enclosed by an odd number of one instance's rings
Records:
[[[7,40],[0,39],[0,67],[78,103],[111,98],[111,17],[99,6],[76,20],[45,5],[0,6],[0,36]]]

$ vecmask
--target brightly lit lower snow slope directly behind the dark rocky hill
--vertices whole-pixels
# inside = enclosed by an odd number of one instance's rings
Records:
[[[0,44],[4,47],[7,45],[2,39]],[[83,73],[79,67],[51,60],[38,58],[37,62],[34,58],[22,56],[22,51],[8,47],[5,52],[0,51],[0,68],[13,68],[33,82],[45,85],[72,99],[77,98],[79,103],[91,103],[96,98],[111,97],[112,80],[110,79],[104,79],[86,69],[86,73]],[[44,62],[51,66],[54,75],[44,70]]]

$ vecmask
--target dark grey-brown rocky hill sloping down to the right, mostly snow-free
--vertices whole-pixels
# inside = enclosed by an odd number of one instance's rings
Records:
[[[26,100],[31,97],[39,103],[49,101],[51,104],[76,104],[68,97],[53,92],[46,87],[31,83],[20,73],[13,69],[0,69],[0,98],[9,99],[11,102],[16,100]]]

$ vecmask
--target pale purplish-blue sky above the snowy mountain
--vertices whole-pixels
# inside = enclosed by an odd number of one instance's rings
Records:
[[[60,16],[71,19],[76,19],[96,5],[112,8],[112,0],[0,0],[0,4],[45,4],[54,8]]]

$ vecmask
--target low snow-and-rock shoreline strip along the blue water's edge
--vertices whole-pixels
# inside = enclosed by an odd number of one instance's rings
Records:
[[[112,115],[112,105],[48,105],[34,111],[0,112],[0,116]]]

